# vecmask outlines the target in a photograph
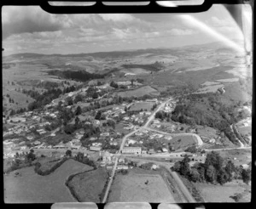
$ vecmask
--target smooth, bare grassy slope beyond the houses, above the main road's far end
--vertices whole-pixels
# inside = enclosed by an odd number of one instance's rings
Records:
[[[143,95],[146,95],[146,94],[159,95],[159,92],[154,88],[145,86],[145,87],[137,88],[137,89],[131,90],[131,91],[119,92],[117,94],[120,97],[132,97],[132,96],[133,97],[143,97]]]

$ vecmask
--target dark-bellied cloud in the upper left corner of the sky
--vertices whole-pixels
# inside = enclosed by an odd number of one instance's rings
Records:
[[[73,23],[67,15],[48,14],[35,6],[3,6],[3,39],[20,33],[60,31]]]

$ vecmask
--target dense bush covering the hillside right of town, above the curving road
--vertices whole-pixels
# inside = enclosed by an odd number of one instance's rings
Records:
[[[234,122],[241,120],[241,114],[237,114],[235,111],[237,105],[227,106],[222,104],[217,93],[189,94],[177,103],[175,110],[172,112],[172,121],[187,123],[192,126],[197,124],[216,128],[224,132],[233,144],[240,145],[230,127]],[[201,106],[205,108],[201,108]],[[162,112],[156,114],[156,116],[160,119],[170,117]]]

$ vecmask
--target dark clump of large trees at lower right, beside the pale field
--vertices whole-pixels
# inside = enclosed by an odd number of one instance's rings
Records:
[[[205,163],[196,163],[194,167],[190,167],[189,161],[189,157],[185,156],[183,161],[174,164],[172,170],[193,182],[223,185],[233,179],[242,179],[246,184],[251,180],[250,169],[236,167],[232,161],[224,164],[224,159],[214,151],[207,154]]]

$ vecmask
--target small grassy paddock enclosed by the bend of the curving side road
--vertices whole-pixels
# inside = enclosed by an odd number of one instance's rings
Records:
[[[196,145],[197,140],[191,135],[183,135],[178,137],[173,137],[170,140],[170,144],[174,148],[174,150],[183,150],[189,146]]]

